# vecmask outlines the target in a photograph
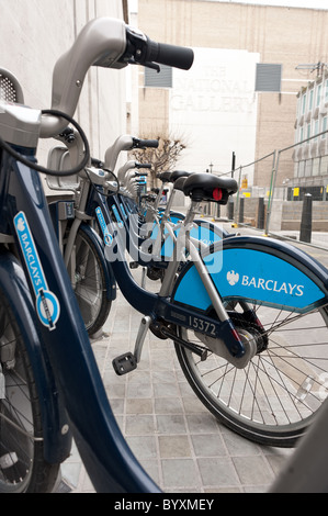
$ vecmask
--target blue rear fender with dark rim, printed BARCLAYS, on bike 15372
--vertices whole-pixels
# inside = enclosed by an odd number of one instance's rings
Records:
[[[328,270],[284,242],[229,237],[202,255],[223,300],[244,300],[298,313],[327,303]],[[211,309],[210,296],[192,262],[181,271],[172,299],[203,312]]]

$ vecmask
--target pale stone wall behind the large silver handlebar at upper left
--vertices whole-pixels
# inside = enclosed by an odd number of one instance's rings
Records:
[[[0,0],[0,67],[20,81],[25,104],[49,109],[52,77],[57,59],[94,18],[124,19],[123,0]],[[75,114],[84,130],[92,155],[105,149],[126,132],[125,70],[93,67],[83,85]],[[46,164],[47,150],[56,142],[41,141],[38,159]]]

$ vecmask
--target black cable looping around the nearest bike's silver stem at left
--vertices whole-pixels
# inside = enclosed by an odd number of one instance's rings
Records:
[[[24,158],[20,153],[14,150],[11,145],[9,145],[4,139],[0,137],[0,147],[4,148],[4,150],[10,154],[14,159],[18,161],[22,162],[23,165],[26,165],[27,167],[32,168],[33,170],[36,170],[37,172],[46,173],[47,176],[73,176],[75,173],[80,172],[89,162],[90,159],[90,147],[89,147],[89,142],[88,138],[82,130],[82,127],[76,122],[71,116],[69,116],[66,113],[63,113],[61,111],[57,110],[43,110],[42,114],[52,114],[54,116],[59,116],[61,119],[67,120],[71,125],[76,127],[76,130],[79,132],[83,145],[84,145],[84,157],[81,160],[79,165],[76,167],[71,168],[70,170],[52,170],[46,167],[42,167],[41,165],[34,164],[33,161],[30,161],[30,159]]]

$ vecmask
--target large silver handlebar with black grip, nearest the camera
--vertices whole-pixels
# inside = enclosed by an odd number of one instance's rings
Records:
[[[92,20],[55,65],[52,109],[73,115],[91,66],[123,68],[137,64],[154,67],[154,61],[189,69],[193,63],[193,51],[152,42],[122,20]],[[67,122],[63,119],[43,116],[39,135],[43,138],[54,137],[66,126]]]

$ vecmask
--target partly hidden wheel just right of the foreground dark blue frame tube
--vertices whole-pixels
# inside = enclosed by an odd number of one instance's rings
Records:
[[[73,266],[71,266],[73,262]],[[78,231],[72,268],[72,288],[81,311],[86,328],[94,335],[106,322],[112,301],[106,296],[105,272],[98,250],[82,229]]]

